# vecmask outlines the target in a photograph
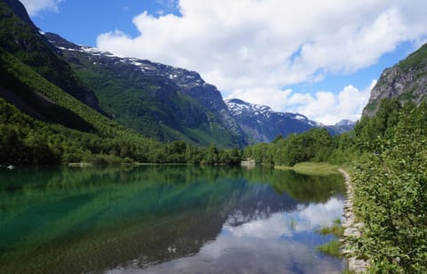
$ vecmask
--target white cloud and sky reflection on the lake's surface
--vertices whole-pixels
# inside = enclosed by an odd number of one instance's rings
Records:
[[[342,201],[337,198],[331,198],[325,206],[308,205],[285,213],[260,212],[253,218],[237,210],[230,214],[217,238],[197,254],[145,270],[131,267],[113,273],[340,273],[342,262],[314,250],[329,238],[313,230],[331,224],[341,213]],[[310,219],[313,214],[316,218]]]

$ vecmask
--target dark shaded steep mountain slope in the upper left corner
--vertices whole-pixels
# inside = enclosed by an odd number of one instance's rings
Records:
[[[62,90],[98,109],[98,101],[67,62],[52,51],[18,0],[0,1],[0,47]]]

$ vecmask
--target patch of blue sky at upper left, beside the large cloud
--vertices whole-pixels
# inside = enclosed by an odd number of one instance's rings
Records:
[[[96,46],[101,33],[120,29],[136,36],[133,17],[144,11],[159,16],[163,12],[177,13],[176,3],[156,0],[66,0],[39,1],[39,7],[31,14],[36,26],[44,31],[60,34],[76,44]],[[57,4],[55,4],[57,3]],[[28,5],[28,4],[26,4]],[[29,11],[28,11],[29,12]]]

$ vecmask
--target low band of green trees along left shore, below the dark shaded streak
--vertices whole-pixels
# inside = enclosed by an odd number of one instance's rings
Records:
[[[114,125],[114,124],[113,124]],[[95,165],[149,163],[238,165],[238,149],[197,148],[184,141],[150,141],[121,127],[85,133],[38,121],[0,98],[0,164],[42,165],[89,162]]]

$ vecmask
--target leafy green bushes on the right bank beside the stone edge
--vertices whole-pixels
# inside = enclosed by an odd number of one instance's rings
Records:
[[[354,177],[366,227],[361,255],[375,272],[427,271],[427,108],[406,105],[399,122],[370,142]]]

